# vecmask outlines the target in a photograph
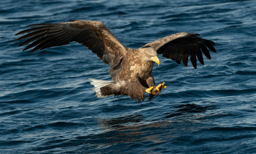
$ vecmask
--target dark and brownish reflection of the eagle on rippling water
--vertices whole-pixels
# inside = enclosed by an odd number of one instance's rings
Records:
[[[206,129],[207,125],[199,126],[198,122],[211,122],[211,116],[217,115],[209,114],[214,109],[215,106],[183,104],[176,106],[172,111],[163,112],[159,115],[162,117],[161,120],[148,121],[141,113],[97,120],[103,129],[102,140],[107,140],[111,144],[158,144],[159,148],[162,144],[180,140],[181,133],[190,134],[202,128]],[[185,139],[184,134],[182,138]]]

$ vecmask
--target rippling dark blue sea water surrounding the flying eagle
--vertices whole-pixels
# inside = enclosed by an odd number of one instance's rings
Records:
[[[10,1],[0,5],[0,153],[256,153],[256,1]],[[29,54],[26,25],[103,22],[139,48],[177,32],[216,43],[195,70],[159,56],[151,101],[97,98],[108,65],[77,43]],[[148,96],[147,96],[148,97]]]

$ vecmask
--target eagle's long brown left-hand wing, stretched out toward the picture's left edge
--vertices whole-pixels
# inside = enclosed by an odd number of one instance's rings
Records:
[[[115,76],[117,71],[120,70],[122,57],[126,54],[126,47],[102,22],[72,20],[67,23],[35,24],[27,27],[35,28],[15,34],[20,35],[30,32],[15,40],[28,38],[19,45],[23,46],[31,43],[23,51],[35,47],[31,50],[31,52],[34,52],[54,46],[68,45],[73,41],[78,42],[88,47],[93,53],[97,53],[104,63],[109,64],[111,77]]]

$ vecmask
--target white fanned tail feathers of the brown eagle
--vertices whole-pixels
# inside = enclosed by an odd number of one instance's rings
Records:
[[[101,95],[101,87],[115,83],[113,81],[104,81],[104,80],[97,80],[97,79],[90,79],[90,80],[92,81],[90,82],[90,84],[94,86],[92,90],[96,92],[96,95],[98,98],[106,98],[109,96],[109,95]]]

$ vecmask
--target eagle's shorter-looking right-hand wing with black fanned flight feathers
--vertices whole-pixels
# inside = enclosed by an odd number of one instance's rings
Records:
[[[197,58],[199,62],[204,65],[202,52],[209,60],[211,59],[211,55],[207,48],[216,52],[213,47],[213,45],[215,45],[214,42],[199,37],[198,35],[197,33],[176,33],[148,43],[141,48],[152,47],[158,54],[163,54],[163,57],[167,59],[176,61],[178,64],[182,61],[184,66],[187,66],[188,56],[190,56],[190,61],[196,69]]]

